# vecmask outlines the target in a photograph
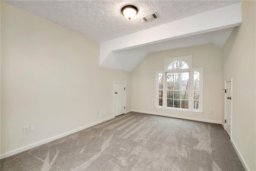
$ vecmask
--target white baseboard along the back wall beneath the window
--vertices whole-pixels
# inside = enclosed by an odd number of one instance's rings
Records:
[[[193,120],[193,121],[202,121],[202,122],[218,123],[218,124],[222,123],[221,121],[214,121],[214,120],[200,119],[200,118],[186,117],[186,116],[178,116],[178,115],[168,115],[165,113],[156,113],[156,112],[141,111],[141,110],[132,110],[132,111],[139,112],[139,113],[148,113],[148,114],[152,114],[152,115],[160,115],[160,116],[175,117],[175,118],[180,118],[180,119],[188,119],[188,120]]]

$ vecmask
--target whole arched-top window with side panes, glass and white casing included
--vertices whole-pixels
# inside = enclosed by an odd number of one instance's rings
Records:
[[[192,68],[192,56],[164,59],[156,87],[157,108],[203,112],[203,68]]]

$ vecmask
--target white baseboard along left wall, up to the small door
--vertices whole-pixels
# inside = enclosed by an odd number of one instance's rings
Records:
[[[42,141],[38,141],[38,142],[36,142],[36,143],[32,143],[32,144],[30,144],[30,145],[26,145],[26,146],[24,146],[24,147],[20,147],[20,148],[18,148],[18,149],[14,149],[14,150],[12,150],[12,151],[7,151],[6,153],[2,153],[0,158],[1,158],[1,159],[4,159],[4,158],[9,157],[9,156],[11,156],[11,155],[18,154],[18,153],[20,153],[20,152],[22,152],[22,151],[26,151],[26,150],[28,150],[28,149],[32,149],[32,148],[37,147],[37,146],[39,146],[39,145],[42,145],[42,144],[48,143],[48,142],[50,142],[50,141],[54,141],[54,140],[56,140],[56,139],[65,137],[65,136],[67,136],[67,135],[70,135],[70,134],[72,134],[72,133],[81,131],[81,130],[86,129],[86,128],[88,128],[88,127],[92,127],[92,126],[97,125],[97,124],[99,124],[99,123],[102,123],[102,122],[104,122],[104,121],[108,121],[109,119],[112,119],[112,118],[114,118],[114,116],[108,117],[108,118],[106,118],[106,119],[102,119],[102,120],[100,120],[100,121],[91,123],[91,124],[89,124],[89,125],[85,125],[85,126],[79,127],[79,128],[77,128],[77,129],[73,129],[72,131],[68,131],[68,132],[65,132],[65,133],[56,135],[56,136],[54,136],[54,137],[50,137],[50,138],[48,138],[48,139],[44,139],[44,140],[42,140]]]

